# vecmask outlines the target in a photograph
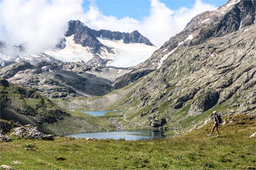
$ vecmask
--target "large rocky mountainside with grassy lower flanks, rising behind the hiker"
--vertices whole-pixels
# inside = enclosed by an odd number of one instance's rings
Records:
[[[207,123],[213,110],[221,115],[255,115],[254,20],[252,1],[232,0],[215,11],[199,14],[144,66],[124,76],[120,86],[125,85],[127,77],[155,70],[134,78],[133,88],[123,98],[104,106],[105,109],[124,109],[125,116],[119,121],[130,127],[181,131]]]

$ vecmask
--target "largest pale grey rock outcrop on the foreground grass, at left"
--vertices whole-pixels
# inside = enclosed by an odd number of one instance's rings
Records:
[[[36,127],[32,125],[25,125],[24,127],[16,127],[12,129],[12,133],[10,135],[16,135],[19,139],[29,138],[29,139],[45,139],[52,140],[54,135],[46,135],[37,130]]]

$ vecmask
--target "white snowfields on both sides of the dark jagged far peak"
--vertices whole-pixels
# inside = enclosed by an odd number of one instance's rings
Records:
[[[64,49],[50,48],[44,53],[65,62],[89,61],[94,56],[89,51],[89,47],[83,47],[76,44],[73,40],[74,35],[65,37],[66,47]],[[123,40],[110,40],[102,37],[97,39],[104,45],[112,48],[113,53],[109,53],[106,48],[102,47],[100,53],[97,53],[102,59],[110,59],[107,66],[115,67],[131,67],[136,66],[148,59],[154,51],[155,46],[150,46],[142,43],[123,43]]]

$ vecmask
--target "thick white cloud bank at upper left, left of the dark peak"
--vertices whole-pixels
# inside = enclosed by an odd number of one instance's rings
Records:
[[[82,13],[82,0],[3,0],[0,3],[1,37],[8,43],[26,43],[29,53],[37,53],[58,43],[65,25]]]

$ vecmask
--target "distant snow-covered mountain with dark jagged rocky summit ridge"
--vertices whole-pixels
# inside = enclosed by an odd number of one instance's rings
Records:
[[[4,44],[6,47],[6,43]],[[14,46],[9,46],[14,48]],[[3,47],[4,48],[4,47]],[[148,59],[156,47],[138,31],[121,33],[109,30],[93,30],[79,20],[70,20],[65,37],[55,47],[40,54],[27,56],[15,47],[11,53],[0,51],[2,61],[82,61],[98,66],[131,67]]]

